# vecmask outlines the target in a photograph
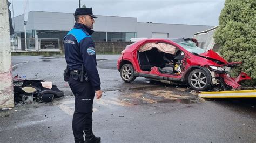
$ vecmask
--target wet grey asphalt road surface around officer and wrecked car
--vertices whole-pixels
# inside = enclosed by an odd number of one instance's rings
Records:
[[[186,86],[124,83],[117,58],[97,56],[104,94],[93,105],[93,130],[102,142],[256,142],[255,100],[200,101]],[[52,81],[65,96],[0,111],[0,142],[73,142],[74,98],[63,81],[63,56],[13,56],[12,65],[14,76]]]

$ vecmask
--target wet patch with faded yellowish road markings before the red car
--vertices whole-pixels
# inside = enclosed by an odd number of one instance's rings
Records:
[[[198,96],[170,87],[139,87],[130,89],[112,89],[103,92],[98,104],[117,106],[157,105],[157,104],[194,104],[201,103]],[[157,105],[158,106],[158,105]]]

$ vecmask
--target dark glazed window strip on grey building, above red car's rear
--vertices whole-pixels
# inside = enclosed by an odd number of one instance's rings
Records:
[[[107,32],[107,41],[130,41],[131,38],[137,38],[137,33]]]

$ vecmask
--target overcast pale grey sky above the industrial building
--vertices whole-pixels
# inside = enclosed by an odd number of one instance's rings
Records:
[[[13,2],[14,15],[22,15],[23,0]],[[28,0],[28,11],[73,13],[78,0]],[[137,17],[138,22],[218,25],[225,0],[81,0],[94,15]],[[12,11],[12,5],[10,6]]]

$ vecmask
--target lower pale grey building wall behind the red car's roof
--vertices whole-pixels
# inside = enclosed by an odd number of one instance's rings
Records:
[[[194,33],[213,28],[214,26],[137,23],[137,37],[152,38],[152,33],[168,33],[169,38],[193,37]]]

